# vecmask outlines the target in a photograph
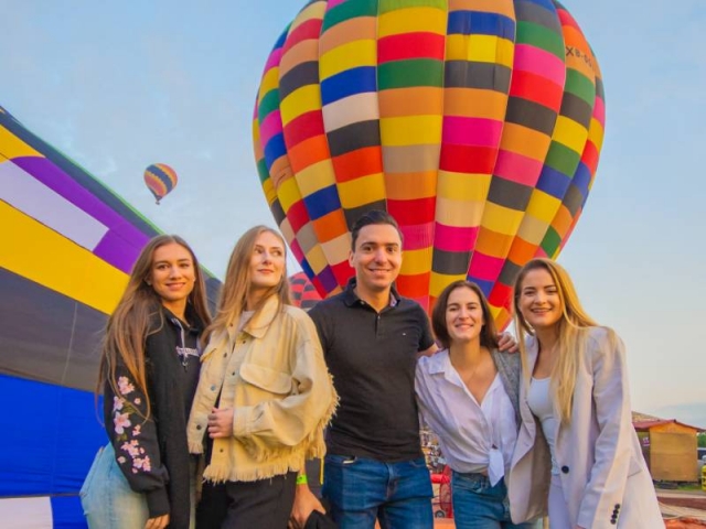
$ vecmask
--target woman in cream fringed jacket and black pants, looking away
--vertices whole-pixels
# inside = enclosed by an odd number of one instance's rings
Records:
[[[313,322],[289,304],[285,262],[264,226],[231,256],[188,427],[206,465],[200,529],[286,528],[297,474],[325,453],[338,398]]]

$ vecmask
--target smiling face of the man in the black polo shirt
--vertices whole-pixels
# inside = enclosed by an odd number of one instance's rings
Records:
[[[389,291],[402,266],[399,233],[389,224],[364,226],[349,256],[349,263],[355,269],[359,296]]]

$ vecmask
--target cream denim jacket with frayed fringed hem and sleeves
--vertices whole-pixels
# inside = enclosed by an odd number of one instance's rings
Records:
[[[252,482],[298,472],[325,453],[323,429],[338,396],[311,319],[271,296],[240,333],[214,333],[202,356],[188,425],[189,450],[204,452],[207,415],[233,408],[233,436],[214,440],[204,478]]]

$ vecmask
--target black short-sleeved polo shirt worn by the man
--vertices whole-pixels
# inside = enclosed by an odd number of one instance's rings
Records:
[[[417,353],[434,344],[429,320],[395,290],[394,303],[378,313],[354,288],[353,279],[309,311],[341,398],[328,451],[388,463],[419,457],[415,366]]]

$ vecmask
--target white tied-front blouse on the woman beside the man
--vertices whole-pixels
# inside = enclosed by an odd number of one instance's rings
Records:
[[[494,485],[510,468],[517,441],[515,410],[501,377],[495,375],[479,403],[443,349],[419,358],[415,388],[421,417],[439,438],[449,466],[460,473],[488,471]]]

